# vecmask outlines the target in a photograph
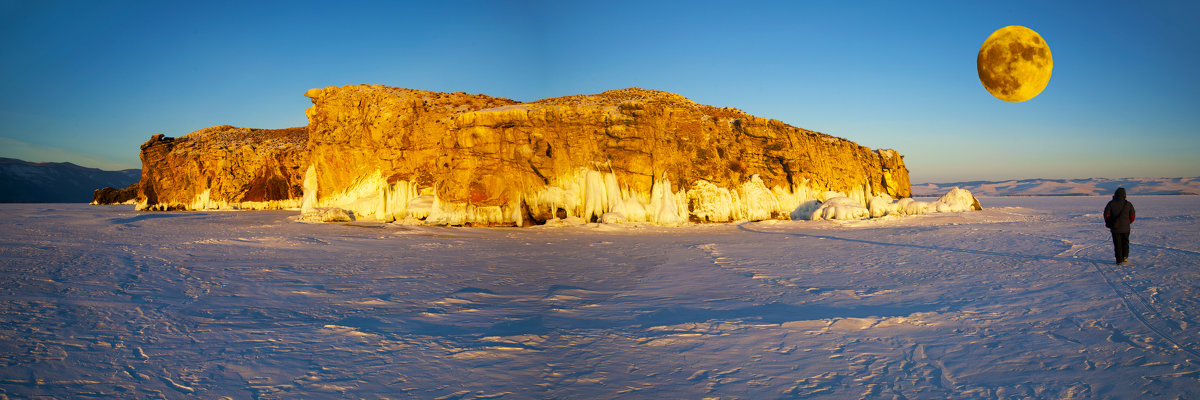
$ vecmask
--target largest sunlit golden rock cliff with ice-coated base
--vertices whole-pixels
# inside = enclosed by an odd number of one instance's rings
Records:
[[[894,150],[664,91],[530,103],[379,85],[306,95],[304,208],[358,219],[520,226],[613,213],[673,225],[786,217],[827,191],[863,204],[911,195]]]

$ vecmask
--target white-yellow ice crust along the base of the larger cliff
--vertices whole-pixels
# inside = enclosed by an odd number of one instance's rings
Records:
[[[932,205],[920,203],[919,207],[910,207],[911,199],[893,202],[887,195],[876,193],[869,184],[844,193],[817,190],[805,179],[791,187],[767,187],[758,175],[733,189],[696,180],[690,187],[678,190],[672,187],[666,175],[661,175],[654,180],[649,192],[643,192],[631,190],[612,172],[578,168],[572,174],[552,179],[550,185],[510,196],[509,204],[476,205],[446,202],[437,196],[437,187],[422,189],[407,180],[389,183],[380,171],[359,177],[346,190],[318,197],[316,168],[310,166],[305,174],[301,220],[306,221],[353,217],[425,225],[521,226],[526,222],[523,207],[527,207],[529,210],[548,211],[550,215],[563,210],[571,221],[679,226],[690,220],[845,220],[958,211],[970,209],[973,199],[970,192],[959,190],[961,192],[952,191],[953,196],[947,195]]]

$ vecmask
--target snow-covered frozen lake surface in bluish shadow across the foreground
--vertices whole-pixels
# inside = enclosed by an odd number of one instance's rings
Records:
[[[680,228],[0,205],[0,398],[1196,399],[1200,197]]]

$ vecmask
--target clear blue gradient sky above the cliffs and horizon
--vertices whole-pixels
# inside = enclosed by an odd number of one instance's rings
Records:
[[[641,86],[905,155],[914,183],[1200,175],[1200,2],[0,0],[0,156],[137,168],[154,133],[302,126],[304,92]],[[1054,53],[1024,103],[976,55]]]

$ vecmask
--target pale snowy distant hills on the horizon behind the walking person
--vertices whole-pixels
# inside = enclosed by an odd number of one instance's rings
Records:
[[[977,180],[913,184],[912,192],[913,196],[941,196],[955,186],[970,190],[976,196],[1109,196],[1117,187],[1124,187],[1129,196],[1200,195],[1200,177]]]

